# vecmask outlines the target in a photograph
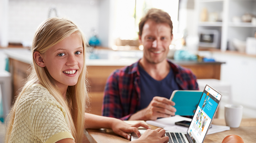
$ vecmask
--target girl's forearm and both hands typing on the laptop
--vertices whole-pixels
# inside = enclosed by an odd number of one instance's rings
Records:
[[[116,118],[103,117],[90,113],[85,113],[84,116],[85,129],[112,129],[116,134],[119,134],[128,140],[130,140],[130,135],[128,135],[127,133],[135,132],[139,139],[132,141],[132,143],[167,143],[169,139],[168,136],[165,136],[164,129],[158,128],[156,130],[150,130],[151,128],[142,122],[138,122],[134,125],[129,125],[124,121]],[[143,126],[144,128],[148,129],[142,136],[137,129],[139,126]]]

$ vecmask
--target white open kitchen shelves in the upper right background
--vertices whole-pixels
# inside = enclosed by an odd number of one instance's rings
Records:
[[[195,10],[198,31],[211,29],[220,33],[221,51],[226,51],[228,42],[234,39],[245,42],[247,37],[254,37],[256,23],[243,22],[242,16],[256,15],[256,0],[195,0]]]

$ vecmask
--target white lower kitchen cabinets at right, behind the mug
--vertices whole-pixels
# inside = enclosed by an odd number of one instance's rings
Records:
[[[226,62],[221,66],[220,79],[230,83],[233,103],[244,106],[243,115],[245,117],[256,118],[256,55],[234,51],[212,51],[211,53],[214,59]],[[221,101],[222,109],[228,103],[227,98],[223,99]]]

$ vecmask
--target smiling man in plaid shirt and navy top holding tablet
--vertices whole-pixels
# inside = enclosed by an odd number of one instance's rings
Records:
[[[121,120],[156,120],[175,115],[174,90],[198,90],[196,77],[167,60],[173,39],[168,13],[150,9],[139,23],[144,55],[113,72],[104,89],[102,115]]]

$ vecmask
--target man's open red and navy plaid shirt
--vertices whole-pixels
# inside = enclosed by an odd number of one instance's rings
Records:
[[[168,61],[168,60],[167,60]],[[102,115],[128,120],[138,111],[140,104],[140,73],[138,62],[117,69],[107,80],[104,89]],[[198,90],[196,77],[191,70],[168,61],[175,80],[182,90]],[[170,85],[172,86],[172,85]]]

